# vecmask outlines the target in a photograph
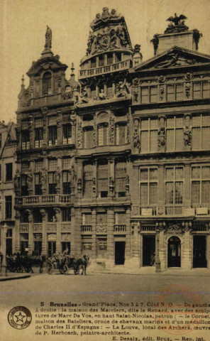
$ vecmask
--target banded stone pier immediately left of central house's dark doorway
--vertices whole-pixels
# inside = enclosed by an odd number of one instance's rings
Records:
[[[114,266],[114,211],[107,210],[107,261],[106,267]]]

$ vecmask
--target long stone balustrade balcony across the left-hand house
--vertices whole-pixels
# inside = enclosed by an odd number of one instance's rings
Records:
[[[70,204],[71,196],[64,194],[51,195],[29,195],[27,197],[16,197],[16,205],[38,206],[49,204]]]

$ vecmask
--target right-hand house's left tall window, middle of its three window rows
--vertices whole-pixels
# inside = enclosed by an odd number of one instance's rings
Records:
[[[140,141],[142,153],[157,151],[157,119],[141,119]]]

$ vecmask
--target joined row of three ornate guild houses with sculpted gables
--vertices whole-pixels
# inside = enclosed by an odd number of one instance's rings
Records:
[[[47,26],[18,95],[14,251],[88,254],[106,269],[209,268],[210,56],[186,19],[168,18],[143,61],[105,7],[78,82]]]

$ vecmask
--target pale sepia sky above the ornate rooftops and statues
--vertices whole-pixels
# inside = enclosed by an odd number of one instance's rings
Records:
[[[21,78],[28,87],[26,72],[44,49],[46,26],[52,30],[52,52],[69,66],[67,79],[72,63],[77,77],[89,23],[105,6],[124,16],[132,45],[141,45],[143,61],[153,57],[150,40],[165,31],[166,19],[175,13],[187,16],[189,29],[199,29],[199,52],[210,55],[210,0],[1,0],[0,121],[16,120]]]

